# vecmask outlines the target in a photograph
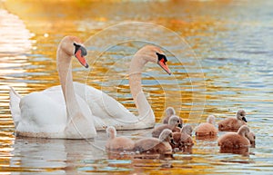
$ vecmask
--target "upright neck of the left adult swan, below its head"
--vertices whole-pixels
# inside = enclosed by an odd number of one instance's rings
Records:
[[[66,101],[67,118],[71,119],[79,109],[76,102],[76,94],[73,86],[71,56],[63,52],[60,48],[57,50],[57,71],[59,73],[60,83]],[[70,120],[67,120],[69,122]]]

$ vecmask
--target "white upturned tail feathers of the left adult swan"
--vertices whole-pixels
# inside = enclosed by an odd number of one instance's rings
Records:
[[[15,122],[15,128],[17,127],[18,123],[21,120],[21,110],[20,110],[20,101],[21,96],[15,92],[15,89],[13,87],[10,87],[9,90],[9,108],[13,117],[13,120]]]

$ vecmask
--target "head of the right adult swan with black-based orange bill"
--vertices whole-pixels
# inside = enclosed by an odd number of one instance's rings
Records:
[[[155,45],[146,45],[137,51],[136,56],[137,55],[144,59],[144,63],[157,63],[168,74],[171,74],[167,67],[167,57],[159,47]]]

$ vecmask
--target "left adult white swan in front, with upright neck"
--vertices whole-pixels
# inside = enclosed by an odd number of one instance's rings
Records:
[[[75,94],[71,57],[86,68],[86,49],[75,36],[66,36],[56,53],[60,86],[25,97],[10,90],[10,109],[17,135],[27,137],[83,139],[96,135],[94,116],[86,102]]]

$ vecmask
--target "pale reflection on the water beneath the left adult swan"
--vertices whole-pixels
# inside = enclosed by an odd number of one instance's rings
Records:
[[[91,141],[16,137],[10,167],[49,174],[76,174],[86,160],[106,159],[105,151],[97,149]]]

